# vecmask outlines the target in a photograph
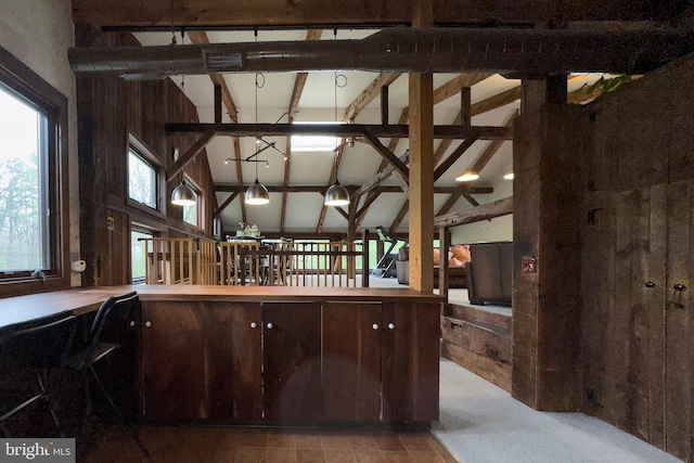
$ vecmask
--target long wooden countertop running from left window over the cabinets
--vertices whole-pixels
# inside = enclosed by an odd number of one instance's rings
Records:
[[[137,291],[142,300],[412,300],[442,303],[435,294],[383,287],[123,285],[76,287],[0,299],[0,327],[55,313],[94,311],[110,296]]]

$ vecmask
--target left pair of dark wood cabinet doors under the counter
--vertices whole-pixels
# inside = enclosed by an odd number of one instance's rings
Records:
[[[262,420],[259,303],[142,305],[149,422]]]

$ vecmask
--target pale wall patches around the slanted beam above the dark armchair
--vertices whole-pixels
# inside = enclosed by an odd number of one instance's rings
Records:
[[[485,200],[485,203],[491,203],[497,200],[513,196],[513,180],[500,180],[494,185],[494,192],[489,195],[478,196]],[[452,244],[468,244],[492,241],[513,241],[513,215],[497,217],[491,220],[483,220],[480,222],[467,223],[460,227],[451,228]]]

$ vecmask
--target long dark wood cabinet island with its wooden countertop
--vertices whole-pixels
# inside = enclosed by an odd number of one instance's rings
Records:
[[[143,422],[426,426],[438,419],[442,298],[411,290],[74,288],[2,299],[0,324],[35,307],[31,298],[81,314],[133,290],[141,312],[120,368],[132,370],[124,390]]]

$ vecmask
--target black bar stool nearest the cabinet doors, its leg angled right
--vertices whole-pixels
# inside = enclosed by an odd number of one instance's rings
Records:
[[[118,420],[128,427],[132,438],[142,450],[142,453],[149,458],[150,452],[142,443],[142,440],[140,440],[138,432],[128,422],[118,406],[116,406],[116,402],[108,393],[108,388],[99,377],[94,369],[97,362],[114,353],[121,347],[128,330],[132,330],[132,326],[136,324],[134,317],[139,306],[140,298],[137,292],[112,296],[106,299],[97,311],[89,336],[83,346],[70,355],[65,364],[80,373],[81,381],[78,387],[85,388],[87,397],[89,397],[88,382],[91,376],[97,387],[99,387],[111,404]],[[74,397],[77,397],[78,394],[79,390],[77,390]]]

